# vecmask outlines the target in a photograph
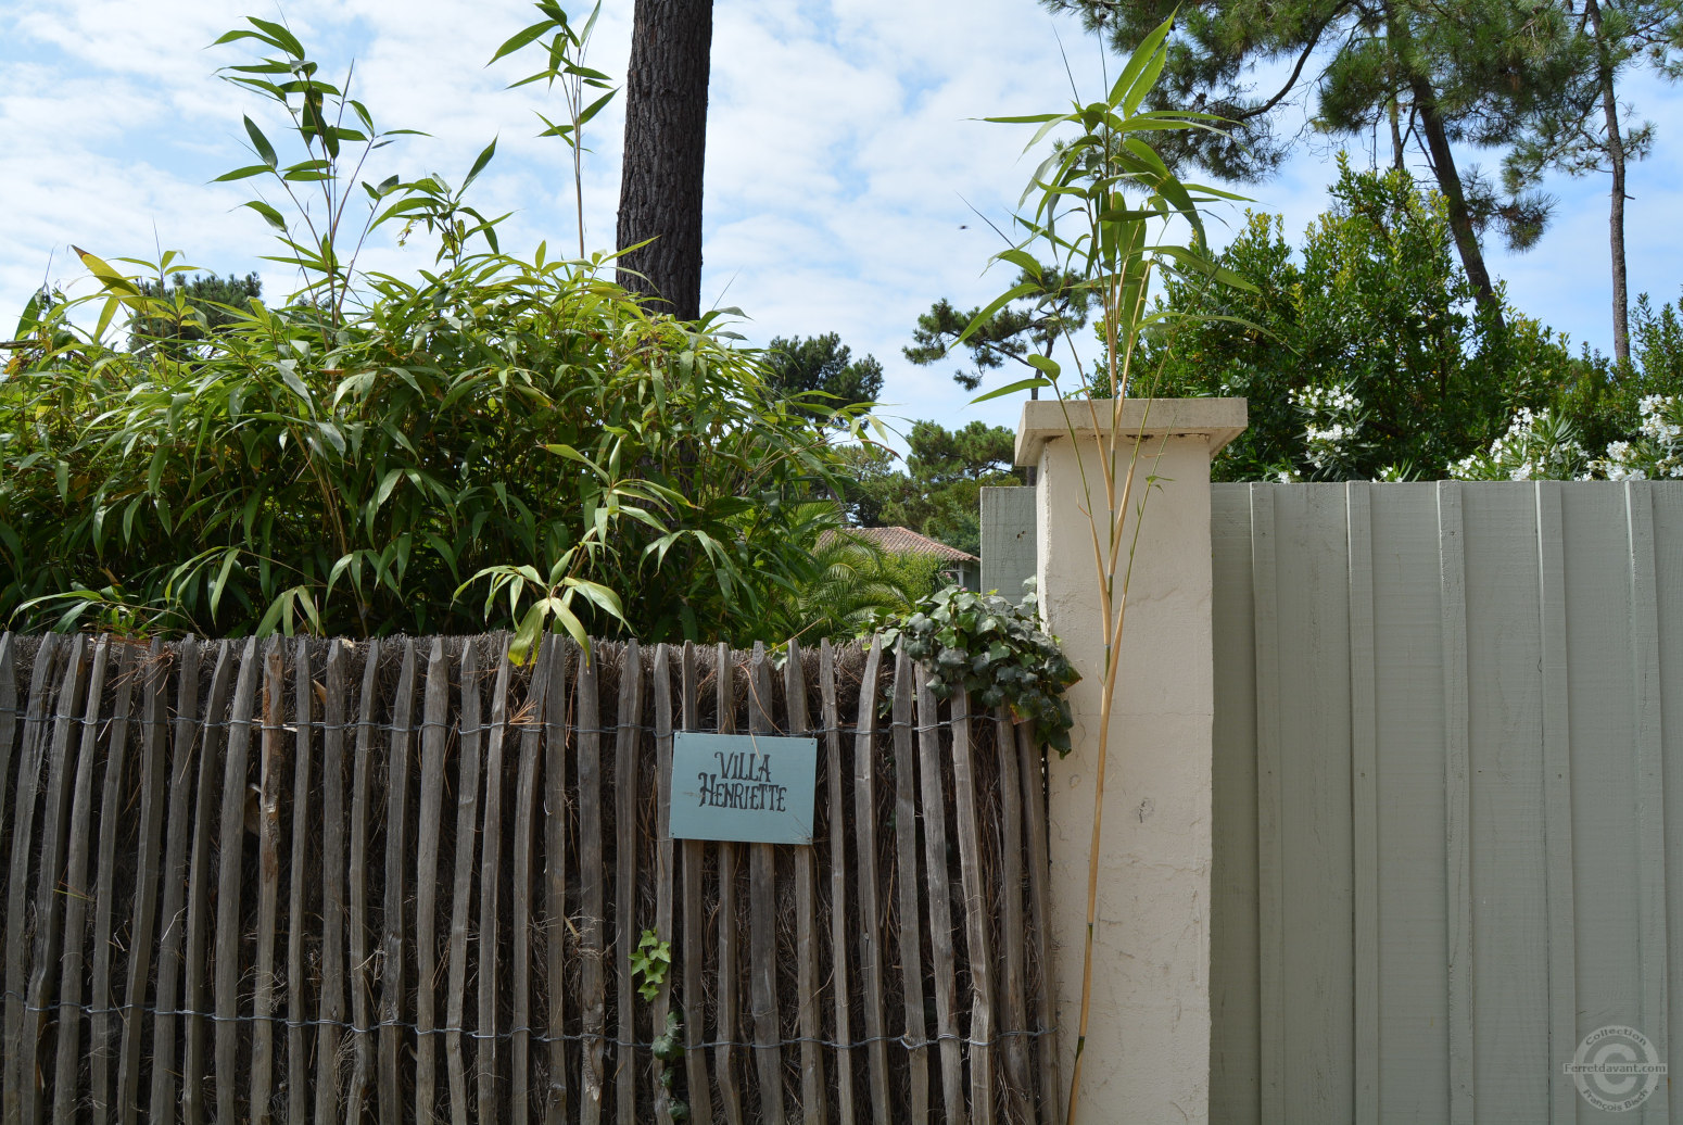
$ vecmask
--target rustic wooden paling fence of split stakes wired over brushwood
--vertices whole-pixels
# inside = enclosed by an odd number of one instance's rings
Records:
[[[1057,1117],[1006,716],[880,647],[505,648],[0,637],[3,1125]],[[815,734],[815,844],[672,840],[680,729]]]

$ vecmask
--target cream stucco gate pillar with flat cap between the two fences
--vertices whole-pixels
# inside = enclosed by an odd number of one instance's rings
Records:
[[[1156,399],[1146,406],[1131,401],[1123,416],[1126,435],[1141,428],[1148,435],[1133,507],[1146,495],[1146,472],[1158,487],[1144,502],[1111,716],[1077,1117],[1094,1123],[1210,1117],[1210,458],[1245,428],[1245,401]],[[1109,404],[1099,413],[1109,424]],[[1089,411],[1070,404],[1070,418],[1075,441],[1059,403],[1027,403],[1017,435],[1017,463],[1038,468],[1040,608],[1082,674],[1069,692],[1074,749],[1049,765],[1052,967],[1065,1091],[1080,1019],[1104,667],[1080,483],[1086,468],[1102,520],[1104,460]]]

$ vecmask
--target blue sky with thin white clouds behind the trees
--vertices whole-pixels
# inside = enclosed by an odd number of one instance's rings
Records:
[[[246,7],[0,3],[0,330],[44,281],[88,291],[72,244],[108,259],[178,249],[205,269],[256,269],[271,298],[295,288],[283,268],[259,261],[273,253],[269,229],[239,205],[259,180],[210,182],[252,163],[242,115],[276,125],[268,104],[215,77],[217,67],[254,61],[254,44],[207,47]],[[496,138],[470,202],[512,212],[503,249],[530,253],[540,241],[550,256],[577,249],[567,150],[537,138],[535,115],[562,111],[559,91],[505,89],[535,69],[518,56],[486,67],[502,40],[537,19],[528,3],[259,0],[249,12],[284,19],[325,72],[353,64],[353,94],[382,128],[429,133],[374,153],[367,179],[459,182]],[[1001,248],[986,221],[1008,226],[1037,160],[1022,155],[1023,126],[980,118],[1060,111],[1072,77],[1084,96],[1102,94],[1107,61],[1097,42],[1032,0],[715,0],[714,13],[703,307],[741,308],[737,330],[754,345],[840,333],[882,362],[885,414],[902,428],[916,418],[1015,426],[1018,403],[971,406],[973,394],[951,379],[956,362],[916,367],[900,349],[934,300],[969,308],[1010,285],[1008,268],[986,269]],[[616,84],[629,35],[631,0],[604,0],[589,62]],[[1675,300],[1683,91],[1633,79],[1626,93],[1639,118],[1659,123],[1653,155],[1631,172],[1631,293]],[[1282,125],[1303,120],[1296,106]],[[616,99],[586,133],[592,249],[611,248],[614,236],[621,126]],[[1276,179],[1240,190],[1250,207],[1281,214],[1299,241],[1326,207],[1343,143],[1367,163],[1362,141],[1313,138]],[[1463,158],[1495,168],[1500,153]],[[1518,310],[1609,350],[1607,182],[1557,177],[1547,189],[1560,204],[1542,244],[1513,256],[1493,239],[1491,269]],[[1220,243],[1242,214],[1213,219]],[[429,264],[421,241],[399,248],[394,234],[377,232],[362,261],[392,273]]]

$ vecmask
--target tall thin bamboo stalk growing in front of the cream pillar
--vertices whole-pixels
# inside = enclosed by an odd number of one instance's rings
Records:
[[[1015,219],[1020,241],[995,256],[996,261],[1022,269],[1023,280],[983,308],[958,340],[963,344],[1010,301],[1028,300],[1050,307],[1060,295],[1067,298],[1070,275],[1079,278],[1079,288],[1092,293],[1094,307],[1102,310],[1097,359],[1084,360],[1082,340],[1065,330],[1047,340],[1043,354],[1027,357],[1035,376],[974,399],[981,403],[1049,389],[1062,408],[1070,443],[1086,441],[1094,453],[1092,470],[1084,458],[1077,458],[1077,467],[1092,542],[1094,594],[1104,621],[1104,660],[1099,670],[1101,712],[1092,780],[1080,1016],[1065,1098],[1069,1122],[1075,1120],[1080,1103],[1082,1059],[1087,1049],[1104,786],[1111,760],[1111,711],[1128,618],[1128,586],[1146,502],[1163,453],[1161,441],[1153,445],[1146,438],[1151,394],[1163,367],[1160,362],[1155,371],[1136,371],[1134,360],[1141,339],[1148,335],[1163,344],[1158,355],[1171,354],[1176,323],[1187,317],[1151,301],[1155,280],[1175,275],[1195,285],[1250,288],[1244,278],[1212,263],[1202,212],[1207,204],[1240,197],[1183,182],[1149,143],[1158,133],[1218,126],[1205,113],[1141,109],[1163,72],[1171,27],[1173,17],[1139,44],[1102,101],[1082,103],[1077,96],[1065,113],[988,118],[1037,125],[1025,152],[1038,148],[1049,138],[1052,145],[1018,204],[1032,204]],[[1185,237],[1170,241],[1178,232]],[[1045,258],[1052,259],[1050,268],[1040,264]],[[1069,362],[1060,362],[1054,352],[1067,354]],[[1134,428],[1123,423],[1129,397],[1144,399],[1141,421]]]

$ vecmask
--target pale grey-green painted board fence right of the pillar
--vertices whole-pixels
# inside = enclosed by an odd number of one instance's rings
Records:
[[[1212,1120],[1683,1125],[1564,1071],[1683,1073],[1683,483],[1217,485],[1212,544]]]

